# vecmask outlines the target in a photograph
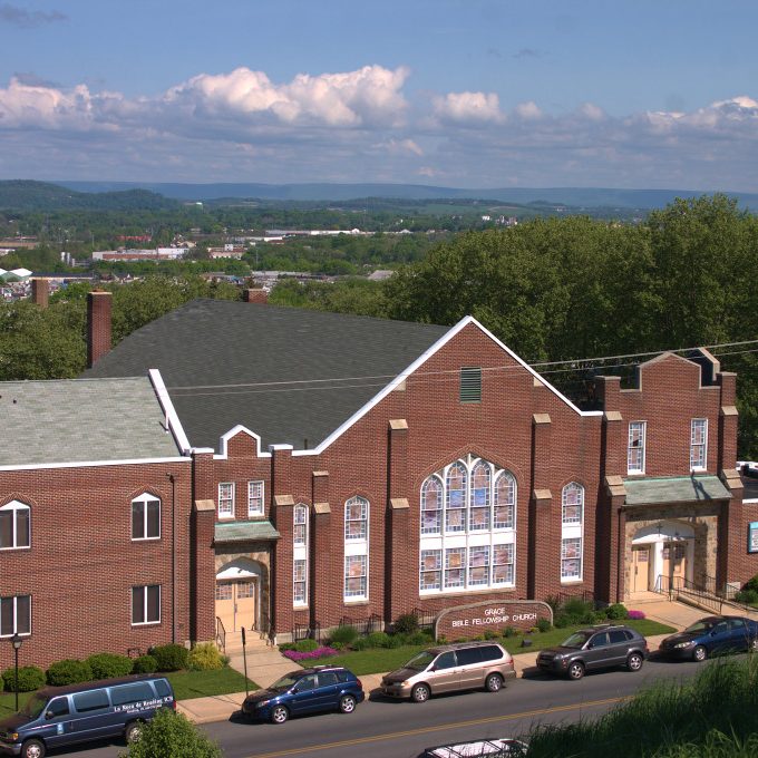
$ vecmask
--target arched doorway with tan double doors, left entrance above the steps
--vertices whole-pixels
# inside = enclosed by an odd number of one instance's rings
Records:
[[[235,558],[216,573],[216,616],[226,632],[259,629],[261,566],[251,558]]]

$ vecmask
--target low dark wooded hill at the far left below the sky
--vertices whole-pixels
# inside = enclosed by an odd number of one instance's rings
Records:
[[[136,186],[93,193],[47,182],[0,181],[0,208],[4,211],[161,211],[178,205],[175,200]]]

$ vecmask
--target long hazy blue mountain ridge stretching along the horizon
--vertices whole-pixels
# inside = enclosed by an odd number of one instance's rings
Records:
[[[136,187],[183,201],[260,198],[278,201],[348,201],[359,197],[405,200],[487,198],[516,204],[543,201],[576,207],[618,207],[649,211],[663,207],[674,197],[698,197],[706,192],[691,190],[612,190],[595,187],[545,187],[460,190],[422,184],[174,184],[152,182],[58,182],[78,192],[127,191]],[[758,211],[758,194],[731,193],[740,205]]]

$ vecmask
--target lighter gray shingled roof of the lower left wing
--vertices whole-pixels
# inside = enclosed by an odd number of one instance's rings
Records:
[[[0,466],[181,455],[147,376],[0,382]]]

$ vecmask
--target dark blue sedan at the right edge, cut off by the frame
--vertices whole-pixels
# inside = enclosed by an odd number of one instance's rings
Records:
[[[758,622],[744,616],[707,616],[683,632],[667,636],[659,648],[664,658],[704,661],[710,655],[758,650]]]

